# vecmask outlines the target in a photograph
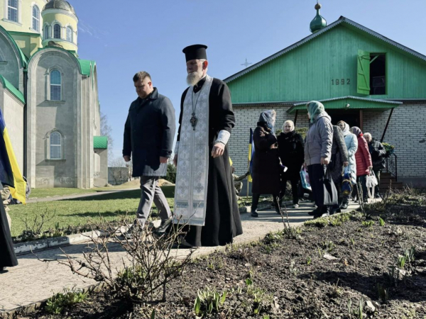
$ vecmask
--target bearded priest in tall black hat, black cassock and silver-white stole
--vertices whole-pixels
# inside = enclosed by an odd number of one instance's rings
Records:
[[[226,245],[243,233],[226,146],[235,118],[228,86],[207,74],[207,46],[185,47],[175,165],[175,223],[187,223],[181,245]]]

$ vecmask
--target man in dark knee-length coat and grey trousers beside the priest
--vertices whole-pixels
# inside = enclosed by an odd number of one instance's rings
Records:
[[[153,87],[148,72],[136,73],[133,82],[138,99],[131,103],[124,125],[123,157],[126,162],[133,157],[132,176],[141,177],[141,201],[135,224],[145,225],[154,202],[164,225],[171,212],[158,178],[167,174],[167,161],[172,155],[175,109]]]

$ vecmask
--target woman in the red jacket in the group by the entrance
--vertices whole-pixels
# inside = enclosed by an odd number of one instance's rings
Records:
[[[351,133],[358,139],[358,150],[355,153],[356,160],[356,185],[354,187],[355,196],[361,194],[361,190],[358,189],[358,184],[361,184],[362,188],[362,200],[364,203],[368,201],[368,189],[367,189],[367,176],[373,169],[373,162],[371,161],[370,151],[368,150],[368,143],[364,138],[361,129],[357,126],[351,128]],[[359,198],[361,200],[361,198]]]

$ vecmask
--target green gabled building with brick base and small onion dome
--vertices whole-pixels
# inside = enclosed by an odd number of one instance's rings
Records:
[[[231,158],[247,169],[249,128],[274,108],[307,127],[307,101],[322,101],[332,122],[346,121],[395,146],[389,170],[398,181],[425,184],[426,56],[341,16],[326,26],[316,6],[312,34],[224,79],[231,90],[236,127]],[[420,143],[419,143],[420,142]]]

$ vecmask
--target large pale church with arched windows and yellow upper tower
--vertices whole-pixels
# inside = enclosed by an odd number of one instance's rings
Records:
[[[0,108],[31,187],[107,184],[97,65],[64,0],[0,0]]]

